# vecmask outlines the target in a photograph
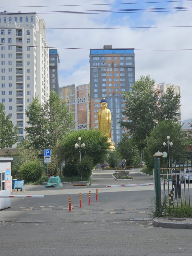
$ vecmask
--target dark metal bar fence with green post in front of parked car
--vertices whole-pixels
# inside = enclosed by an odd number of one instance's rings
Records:
[[[168,198],[169,208],[189,204],[192,206],[192,158],[185,157],[169,166],[168,160],[160,158],[160,178],[163,180],[162,199]]]

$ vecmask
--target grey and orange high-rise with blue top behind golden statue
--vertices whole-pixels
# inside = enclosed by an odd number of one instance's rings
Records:
[[[90,116],[91,127],[98,128],[97,111],[100,101],[105,98],[111,111],[112,142],[115,146],[121,140],[126,129],[122,129],[119,121],[127,118],[122,111],[125,102],[122,92],[131,91],[135,83],[135,54],[134,49],[112,48],[90,49]]]

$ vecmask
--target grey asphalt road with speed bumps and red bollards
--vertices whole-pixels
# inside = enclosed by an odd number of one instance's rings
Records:
[[[131,171],[132,181],[151,183],[152,177]],[[103,174],[101,174],[103,173]],[[13,198],[12,207],[0,211],[0,255],[191,255],[191,231],[155,228],[148,219],[153,186],[116,187],[109,171],[94,171],[92,185],[62,188],[24,186],[13,195],[45,195]],[[98,188],[98,202],[95,192]],[[91,191],[91,205],[88,193]],[[79,193],[82,208],[79,208]],[[73,209],[68,210],[68,196]]]

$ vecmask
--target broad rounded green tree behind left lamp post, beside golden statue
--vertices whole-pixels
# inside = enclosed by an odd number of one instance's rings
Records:
[[[94,165],[105,161],[110,143],[107,142],[107,136],[93,129],[73,131],[63,137],[60,154],[65,161],[74,164],[79,159],[79,148],[75,149],[74,147],[79,142],[78,137],[81,137],[81,142],[86,144],[85,149],[81,148],[81,158],[91,157]]]

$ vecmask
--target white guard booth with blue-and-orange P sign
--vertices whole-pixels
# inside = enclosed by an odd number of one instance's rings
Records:
[[[12,157],[0,157],[0,195],[11,195],[11,161]],[[0,210],[11,206],[11,198],[0,198]]]

